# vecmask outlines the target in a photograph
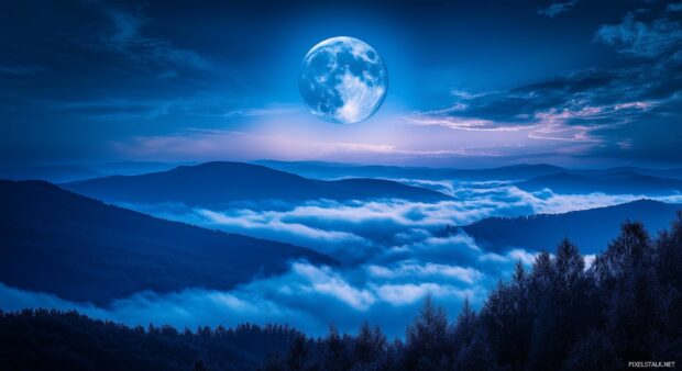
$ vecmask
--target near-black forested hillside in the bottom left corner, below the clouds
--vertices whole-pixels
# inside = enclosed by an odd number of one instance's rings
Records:
[[[76,312],[24,310],[0,315],[0,370],[249,370],[298,334],[250,324],[131,328]]]

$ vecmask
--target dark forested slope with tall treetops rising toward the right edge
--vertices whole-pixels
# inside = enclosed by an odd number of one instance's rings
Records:
[[[590,269],[563,240],[454,322],[427,297],[404,341],[378,329],[297,338],[267,370],[619,370],[682,359],[682,213],[652,239],[640,223]]]

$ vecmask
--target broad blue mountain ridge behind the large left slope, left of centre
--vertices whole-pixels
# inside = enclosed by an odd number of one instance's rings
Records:
[[[232,201],[304,201],[402,198],[439,201],[448,195],[377,179],[323,181],[243,162],[206,162],[140,176],[113,176],[63,184],[108,202],[220,205]]]

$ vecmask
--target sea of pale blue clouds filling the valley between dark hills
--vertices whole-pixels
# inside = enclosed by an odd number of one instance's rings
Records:
[[[439,190],[452,200],[317,200],[220,210],[123,205],[168,220],[309,247],[339,259],[338,267],[292,261],[283,274],[230,291],[141,292],[106,308],[0,284],[0,307],[74,308],[129,325],[154,323],[179,328],[287,323],[311,335],[323,335],[330,324],[354,333],[366,321],[381,325],[389,336],[402,336],[427,293],[454,317],[465,297],[480,306],[498,280],[509,278],[517,261],[530,265],[537,254],[520,248],[486,251],[463,232],[446,233],[447,225],[498,215],[563,213],[642,198],[526,192],[504,182],[403,181]],[[660,200],[682,202],[679,195]],[[551,251],[554,247],[547,248]],[[586,257],[586,262],[592,259]]]

